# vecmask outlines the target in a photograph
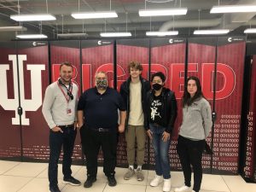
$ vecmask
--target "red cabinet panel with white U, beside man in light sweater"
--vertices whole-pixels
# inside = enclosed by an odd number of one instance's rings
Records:
[[[42,114],[44,90],[49,84],[48,42],[18,42],[23,156],[47,160],[49,128]]]

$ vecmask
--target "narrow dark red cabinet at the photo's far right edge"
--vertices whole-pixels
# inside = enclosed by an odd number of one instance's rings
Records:
[[[256,44],[247,45],[247,49],[253,48],[252,51],[247,52],[245,79],[247,84],[245,86],[244,95],[245,104],[243,105],[243,111],[247,113],[243,114],[243,121],[241,129],[244,129],[244,133],[241,140],[244,141],[241,148],[243,155],[240,160],[241,163],[241,175],[247,182],[256,182]]]

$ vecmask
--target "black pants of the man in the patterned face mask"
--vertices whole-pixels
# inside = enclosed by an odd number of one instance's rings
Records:
[[[88,127],[81,127],[82,147],[86,158],[87,177],[96,177],[97,156],[102,147],[103,172],[107,177],[114,175],[116,166],[117,132],[114,131],[93,131]]]

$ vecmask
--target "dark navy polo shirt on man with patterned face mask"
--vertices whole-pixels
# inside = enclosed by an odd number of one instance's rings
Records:
[[[85,90],[79,98],[78,110],[84,111],[84,124],[91,129],[116,129],[118,109],[125,111],[125,102],[116,90],[109,87],[102,95],[96,87]]]

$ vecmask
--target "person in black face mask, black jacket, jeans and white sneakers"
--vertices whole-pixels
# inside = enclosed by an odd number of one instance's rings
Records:
[[[171,167],[169,148],[172,129],[177,117],[177,102],[172,90],[164,87],[166,77],[164,73],[154,73],[151,77],[153,90],[149,90],[146,97],[147,113],[146,128],[148,137],[152,140],[155,160],[155,177],[150,186],[156,187],[162,181],[163,191],[171,190]]]

